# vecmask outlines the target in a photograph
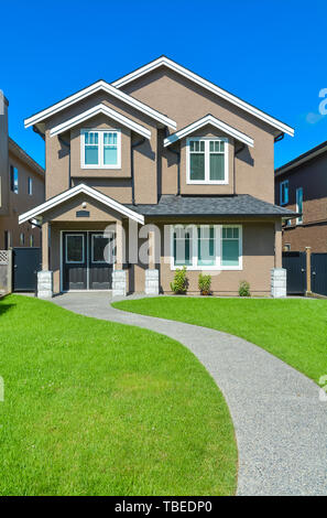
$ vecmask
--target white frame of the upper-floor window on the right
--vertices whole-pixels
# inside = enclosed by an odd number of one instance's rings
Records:
[[[189,142],[200,140],[205,142],[205,180],[190,180]],[[210,141],[225,142],[225,180],[210,180]],[[229,144],[225,137],[188,137],[186,139],[186,183],[188,185],[227,185],[229,182],[228,154]]]

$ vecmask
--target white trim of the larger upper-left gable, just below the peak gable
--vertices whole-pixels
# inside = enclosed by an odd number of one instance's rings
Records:
[[[112,95],[113,97],[122,100],[129,106],[132,106],[133,108],[138,109],[142,114],[148,115],[149,117],[151,117],[152,119],[155,119],[156,121],[161,122],[164,126],[170,126],[173,129],[177,128],[177,125],[174,120],[170,119],[163,114],[160,114],[159,111],[154,110],[150,106],[144,105],[140,100],[135,99],[134,97],[128,94],[124,94],[123,91],[119,90],[118,88],[116,88],[115,86],[110,85],[109,83],[102,79],[98,80],[97,83],[94,83],[92,85],[84,88],[83,90],[77,91],[76,94],[69,97],[66,97],[66,99],[63,99],[59,102],[56,102],[50,108],[46,108],[45,110],[39,111],[39,114],[35,114],[32,117],[29,117],[28,119],[24,120],[25,128],[36,125],[37,122],[41,122],[47,117],[52,117],[54,114],[57,114],[58,111],[65,108],[68,108],[75,102],[78,102],[81,99],[85,99],[86,97],[92,94],[96,94],[99,90],[103,90],[107,94]]]

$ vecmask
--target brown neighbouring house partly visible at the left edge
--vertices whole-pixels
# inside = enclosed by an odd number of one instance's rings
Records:
[[[0,250],[37,247],[41,230],[29,222],[19,225],[19,214],[44,202],[44,170],[8,137],[8,100],[0,112]]]

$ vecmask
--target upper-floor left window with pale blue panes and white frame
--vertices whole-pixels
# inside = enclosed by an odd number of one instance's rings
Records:
[[[119,169],[121,133],[119,130],[83,130],[80,136],[81,166],[85,169]]]

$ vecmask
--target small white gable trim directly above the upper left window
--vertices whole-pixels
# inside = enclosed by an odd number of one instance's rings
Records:
[[[74,126],[85,122],[86,120],[90,119],[91,117],[95,117],[98,114],[103,114],[110,117],[110,119],[113,119],[120,122],[122,126],[130,128],[132,131],[135,131],[142,137],[145,137],[146,139],[151,139],[151,131],[144,128],[144,126],[138,125],[132,119],[124,117],[119,111],[116,111],[112,108],[109,108],[102,102],[97,106],[94,106],[92,108],[84,111],[83,114],[77,115],[76,117],[73,117],[72,119],[66,120],[62,125],[56,126],[50,131],[50,136],[54,137],[55,134],[63,133],[64,131],[67,131],[70,128],[74,128]]]

